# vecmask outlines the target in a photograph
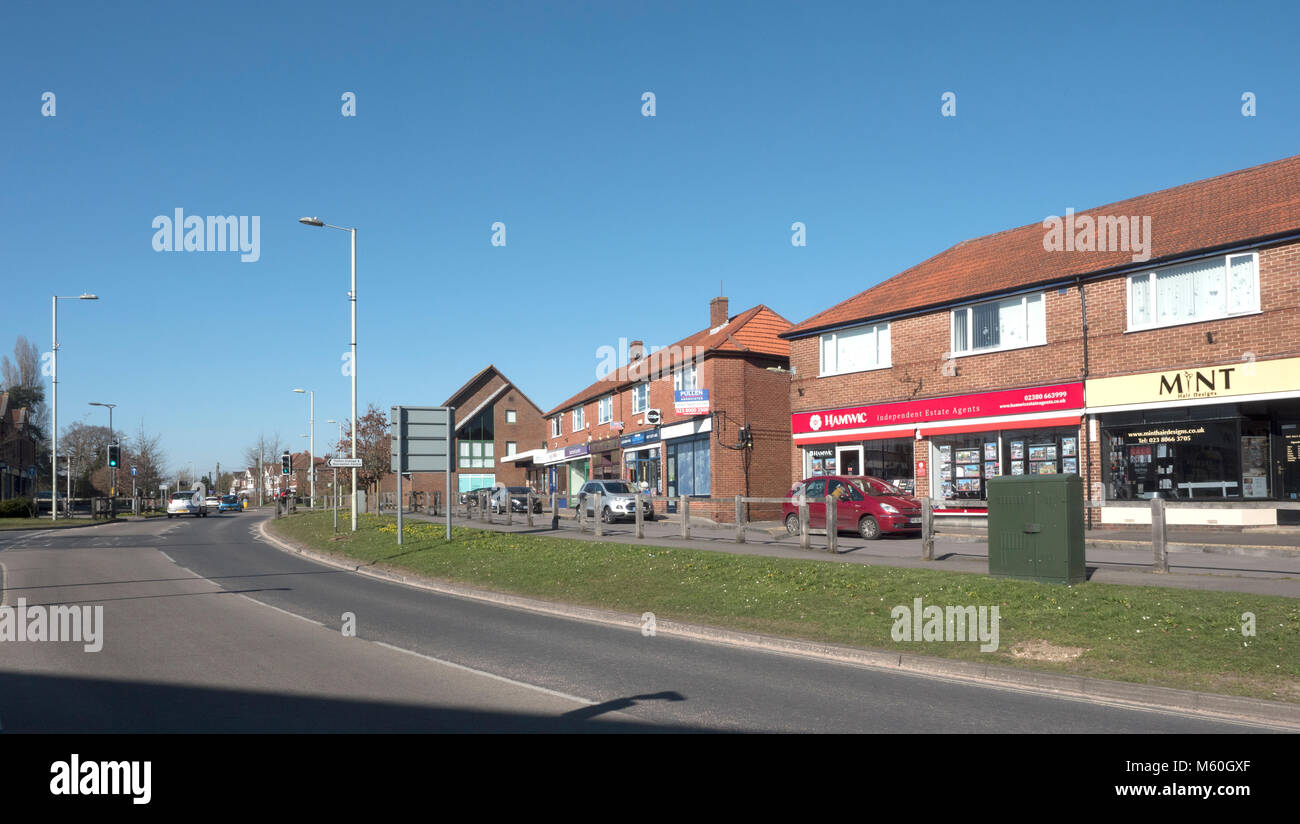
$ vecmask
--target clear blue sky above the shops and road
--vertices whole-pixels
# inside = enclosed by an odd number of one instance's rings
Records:
[[[488,363],[546,409],[601,346],[706,326],[719,281],[800,321],[959,240],[1294,155],[1297,16],[10,1],[0,350],[48,350],[49,296],[96,292],[60,304],[61,424],[117,403],[173,467],[234,465],[259,430],[306,444],[307,387],[324,452],[348,239],[296,222],[318,214],[359,229],[363,409],[438,404]],[[260,259],[155,251],[177,208],[259,216]]]

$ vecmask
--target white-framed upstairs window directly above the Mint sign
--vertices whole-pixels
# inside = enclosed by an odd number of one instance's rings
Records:
[[[1128,276],[1128,329],[1260,311],[1258,256],[1226,255]]]

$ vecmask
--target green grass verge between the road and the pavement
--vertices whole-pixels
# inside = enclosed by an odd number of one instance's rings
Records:
[[[334,535],[329,512],[269,524],[280,535],[377,567],[575,604],[920,655],[978,660],[1300,703],[1300,600],[1148,586],[1060,586],[987,576],[646,545],[511,535],[363,515]],[[1000,647],[896,642],[894,606],[997,606]],[[1243,637],[1253,612],[1256,636]],[[1022,643],[1082,647],[1017,658]]]

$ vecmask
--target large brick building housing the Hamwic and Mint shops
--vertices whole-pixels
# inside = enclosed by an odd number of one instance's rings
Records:
[[[1297,304],[1300,156],[966,240],[783,335],[792,465],[941,512],[1078,473],[1092,524],[1149,522],[1156,494],[1171,524],[1286,521]]]

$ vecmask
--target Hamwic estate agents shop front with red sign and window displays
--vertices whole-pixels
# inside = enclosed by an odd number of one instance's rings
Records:
[[[800,412],[792,429],[803,477],[871,474],[936,512],[983,512],[993,477],[1080,473],[1083,383],[1057,383]]]

